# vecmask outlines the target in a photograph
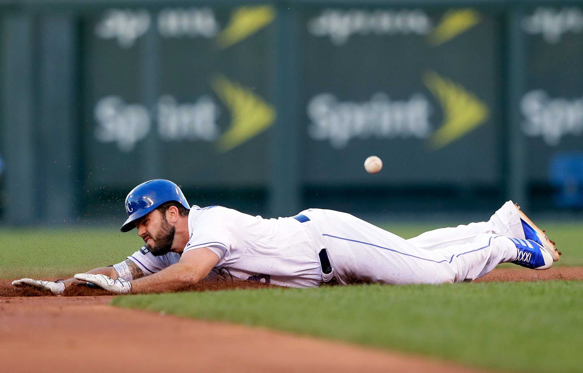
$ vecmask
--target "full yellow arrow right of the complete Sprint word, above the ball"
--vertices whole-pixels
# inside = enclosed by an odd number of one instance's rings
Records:
[[[431,146],[435,149],[447,146],[488,119],[487,106],[461,85],[441,78],[435,72],[427,72],[424,83],[440,101],[443,109],[443,124],[429,138]]]

